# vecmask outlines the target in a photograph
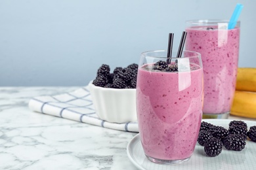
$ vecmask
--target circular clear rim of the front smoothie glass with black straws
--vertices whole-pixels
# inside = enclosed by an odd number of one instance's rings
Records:
[[[167,57],[160,57],[160,56],[148,56],[147,54],[148,53],[154,53],[154,52],[167,52],[167,50],[150,50],[150,51],[146,51],[146,52],[142,52],[140,56],[144,56],[144,57],[148,57],[148,58],[163,58],[163,59],[168,59]],[[177,52],[177,51],[174,51],[174,52]],[[193,53],[193,54],[196,54],[195,56],[188,56],[186,58],[201,58],[201,54],[199,52],[195,52],[195,51],[190,51],[190,50],[183,50],[182,53],[184,52],[190,52],[190,53]],[[169,58],[169,59],[184,59],[184,58]]]

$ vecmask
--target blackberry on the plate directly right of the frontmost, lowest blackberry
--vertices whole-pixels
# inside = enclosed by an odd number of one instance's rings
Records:
[[[231,134],[223,139],[223,145],[227,150],[240,151],[245,148],[244,137],[239,134]]]

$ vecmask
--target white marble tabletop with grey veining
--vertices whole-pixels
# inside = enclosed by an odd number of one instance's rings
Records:
[[[28,109],[32,97],[77,88],[0,87],[0,169],[137,169],[126,154],[127,144],[137,133]]]

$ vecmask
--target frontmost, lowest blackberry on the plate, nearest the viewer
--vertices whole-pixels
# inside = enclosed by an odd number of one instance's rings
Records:
[[[205,141],[204,144],[204,151],[207,154],[207,156],[218,156],[221,154],[221,151],[223,150],[223,143],[220,139],[217,139],[216,137],[212,137],[211,139]]]

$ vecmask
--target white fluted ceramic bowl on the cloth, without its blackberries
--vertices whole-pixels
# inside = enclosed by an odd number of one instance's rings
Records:
[[[98,117],[113,123],[137,122],[136,89],[115,89],[89,83],[93,106]]]

